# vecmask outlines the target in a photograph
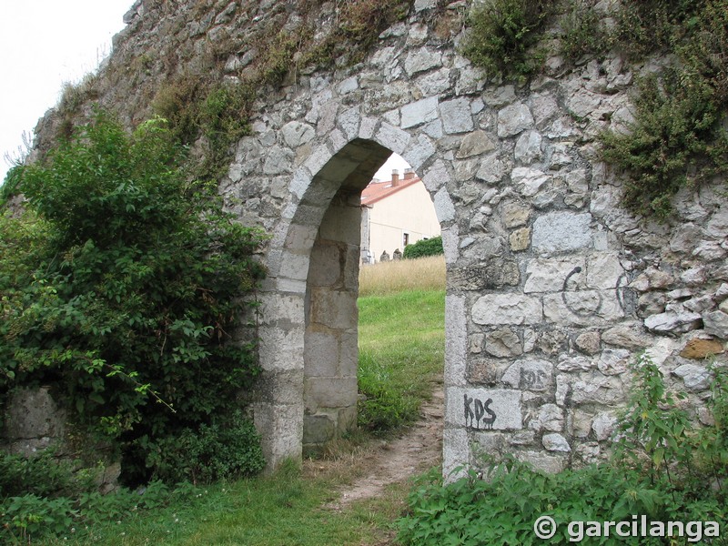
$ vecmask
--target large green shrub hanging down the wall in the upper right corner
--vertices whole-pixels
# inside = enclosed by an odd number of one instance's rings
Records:
[[[722,125],[728,106],[728,2],[626,4],[631,7],[623,9],[635,12],[646,37],[656,40],[649,49],[669,46],[679,62],[642,79],[630,132],[604,134],[603,157],[629,173],[628,207],[667,217],[681,187],[728,172],[728,131]],[[666,21],[654,25],[654,17]]]

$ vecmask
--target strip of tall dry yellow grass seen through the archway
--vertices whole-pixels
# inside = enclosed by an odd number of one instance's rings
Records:
[[[359,296],[444,290],[445,257],[400,259],[359,268]]]

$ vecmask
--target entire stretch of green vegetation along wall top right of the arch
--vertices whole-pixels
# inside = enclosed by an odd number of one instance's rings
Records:
[[[600,137],[602,157],[629,174],[626,207],[667,217],[681,187],[728,173],[728,1],[622,2],[599,14],[593,0],[488,0],[470,15],[462,52],[489,77],[523,82],[541,71],[537,45],[557,15],[560,46],[551,55],[571,63],[609,50],[632,62],[674,60],[639,82],[629,131]]]

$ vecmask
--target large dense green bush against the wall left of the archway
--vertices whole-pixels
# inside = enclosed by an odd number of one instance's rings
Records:
[[[56,384],[124,452],[126,480],[154,472],[138,439],[210,425],[258,373],[232,333],[262,236],[187,181],[181,152],[161,120],[127,135],[99,112],[18,167],[29,212],[0,221],[0,389]]]

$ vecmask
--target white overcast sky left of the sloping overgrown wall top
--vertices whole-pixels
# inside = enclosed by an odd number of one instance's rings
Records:
[[[111,52],[134,0],[0,0],[0,183],[23,132]]]

